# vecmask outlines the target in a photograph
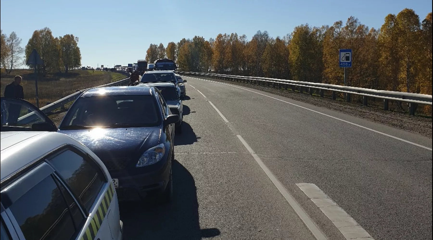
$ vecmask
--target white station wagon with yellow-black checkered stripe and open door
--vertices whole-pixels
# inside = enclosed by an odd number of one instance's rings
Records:
[[[22,109],[31,107],[37,113],[22,116],[21,123],[15,123],[19,126],[0,133],[2,240],[121,240],[117,193],[100,158],[64,134],[46,132],[42,125],[36,128],[45,114],[29,102],[1,102],[22,103]],[[42,118],[33,118],[38,115]]]

